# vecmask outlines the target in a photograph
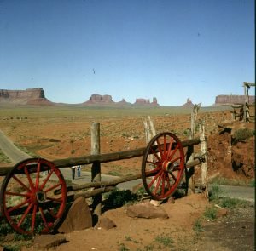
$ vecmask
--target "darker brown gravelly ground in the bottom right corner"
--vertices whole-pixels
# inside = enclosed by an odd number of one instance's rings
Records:
[[[235,208],[214,222],[204,221],[194,250],[255,250],[255,207]]]

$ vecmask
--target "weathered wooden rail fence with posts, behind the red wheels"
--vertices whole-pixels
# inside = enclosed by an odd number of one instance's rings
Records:
[[[195,128],[195,117],[197,115],[198,109],[192,112],[191,121],[193,122],[193,126],[191,128]],[[186,173],[186,183],[189,184],[189,193],[195,192],[195,179],[194,167],[206,161],[206,138],[205,138],[205,130],[204,125],[200,123],[201,136],[200,138],[193,138],[194,131],[192,130],[191,139],[183,140],[182,145],[183,148],[188,147],[186,151],[186,163],[185,163],[185,173]],[[201,152],[195,154],[194,145],[201,144]],[[142,174],[132,174],[127,175],[125,177],[121,177],[115,179],[113,181],[102,182],[101,181],[101,163],[110,163],[113,161],[120,161],[124,159],[130,159],[134,157],[143,157],[145,147],[138,148],[130,151],[119,151],[113,153],[105,153],[100,154],[100,124],[93,123],[91,126],[91,155],[83,156],[83,157],[73,157],[73,158],[65,158],[58,159],[53,161],[57,168],[67,168],[73,167],[76,165],[88,165],[92,164],[91,167],[91,183],[85,183],[83,185],[69,185],[67,186],[67,192],[71,192],[71,194],[67,195],[67,201],[73,201],[76,197],[93,197],[93,205],[94,205],[94,214],[101,214],[101,202],[102,202],[102,193],[107,191],[113,191],[115,186],[131,180],[137,180],[142,177]],[[9,173],[12,167],[3,167],[0,168],[0,176],[4,176]],[[31,172],[36,172],[36,166],[34,168],[30,168]],[[44,166],[41,169],[42,171],[46,170]],[[192,181],[191,181],[192,180]],[[202,165],[201,171],[201,187],[204,191],[207,192],[207,165]],[[81,191],[79,194],[75,194],[74,191],[79,191],[82,189],[94,188],[94,190],[90,191]],[[55,191],[58,193],[58,191]]]

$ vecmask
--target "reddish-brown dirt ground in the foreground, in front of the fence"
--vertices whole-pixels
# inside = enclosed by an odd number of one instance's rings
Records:
[[[194,194],[162,203],[168,219],[131,218],[129,205],[106,211],[102,217],[116,225],[111,229],[89,228],[64,234],[67,242],[49,250],[254,250],[255,208],[225,209],[215,220],[203,216],[213,207],[203,194]],[[200,229],[196,228],[201,222]],[[9,244],[12,241],[9,240]],[[8,242],[3,242],[6,245]],[[22,250],[34,250],[33,247]]]

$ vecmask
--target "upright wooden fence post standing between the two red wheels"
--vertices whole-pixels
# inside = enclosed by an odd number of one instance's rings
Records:
[[[91,132],[91,155],[96,155],[101,153],[101,143],[100,143],[100,123],[92,123],[90,127]],[[101,163],[93,163],[91,166],[91,181],[100,182],[101,179]],[[93,197],[92,206],[94,209],[94,214],[99,217],[102,214],[102,195],[97,195]]]

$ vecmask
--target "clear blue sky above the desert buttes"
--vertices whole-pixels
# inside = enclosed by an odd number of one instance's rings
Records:
[[[211,106],[255,81],[253,0],[1,0],[0,89]],[[250,91],[254,94],[254,90]]]

